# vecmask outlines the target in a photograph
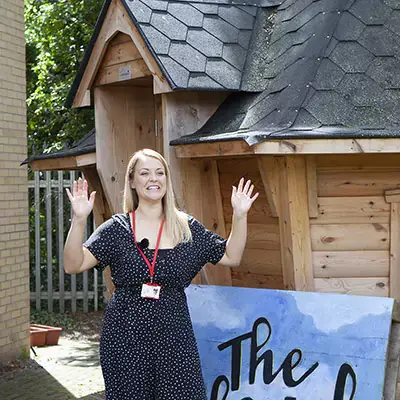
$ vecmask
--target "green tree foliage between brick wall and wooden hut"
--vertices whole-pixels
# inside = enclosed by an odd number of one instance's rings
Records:
[[[94,127],[92,109],[64,103],[102,0],[25,0],[29,155],[58,150]]]

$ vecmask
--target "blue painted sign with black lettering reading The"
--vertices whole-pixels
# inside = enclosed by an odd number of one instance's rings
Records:
[[[210,400],[378,400],[393,299],[191,285]]]

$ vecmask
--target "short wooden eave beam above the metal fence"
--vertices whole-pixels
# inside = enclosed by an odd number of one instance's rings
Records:
[[[34,171],[70,171],[95,164],[96,153],[68,157],[45,158],[43,160],[33,160],[29,163]]]

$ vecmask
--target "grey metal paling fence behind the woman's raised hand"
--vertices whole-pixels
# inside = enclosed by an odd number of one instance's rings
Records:
[[[77,308],[98,310],[104,276],[95,268],[78,275],[64,272],[63,247],[71,222],[65,188],[83,174],[78,171],[34,172],[29,181],[31,303],[37,310],[75,313]],[[71,190],[72,192],[72,190]],[[95,229],[88,218],[86,239]]]

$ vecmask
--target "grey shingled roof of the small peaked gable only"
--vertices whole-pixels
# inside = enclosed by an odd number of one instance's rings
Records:
[[[121,0],[172,89],[246,90],[257,10],[281,0]],[[71,106],[111,0],[106,0],[67,98]],[[245,85],[248,86],[248,85]]]

